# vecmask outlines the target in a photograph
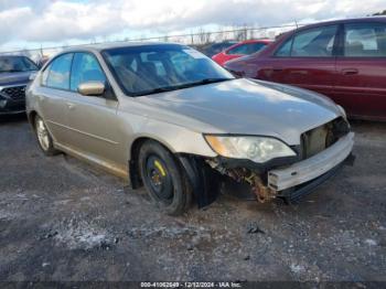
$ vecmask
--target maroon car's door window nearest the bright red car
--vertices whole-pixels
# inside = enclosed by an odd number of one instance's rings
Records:
[[[293,38],[291,56],[330,57],[337,25],[314,28],[297,33]]]

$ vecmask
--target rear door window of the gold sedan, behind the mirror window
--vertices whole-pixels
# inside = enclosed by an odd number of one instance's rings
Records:
[[[43,73],[43,85],[52,88],[68,89],[72,60],[72,53],[55,58]]]

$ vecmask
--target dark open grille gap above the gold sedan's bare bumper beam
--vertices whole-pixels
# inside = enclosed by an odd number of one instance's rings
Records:
[[[301,136],[302,159],[311,158],[334,144],[350,131],[347,121],[336,118],[323,126],[305,131]]]

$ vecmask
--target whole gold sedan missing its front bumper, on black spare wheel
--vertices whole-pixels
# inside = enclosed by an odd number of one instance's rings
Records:
[[[53,57],[28,88],[47,156],[100,165],[146,186],[167,214],[215,200],[218,181],[260,202],[296,200],[350,159],[342,107],[291,86],[235,78],[180,44],[94,45]]]

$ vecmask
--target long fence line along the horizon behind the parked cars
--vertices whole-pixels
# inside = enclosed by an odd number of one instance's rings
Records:
[[[13,51],[0,51],[0,55],[25,55],[39,62],[43,57],[50,57],[64,49],[76,47],[88,44],[99,44],[99,43],[115,43],[115,42],[144,42],[144,41],[161,41],[161,42],[176,42],[184,43],[187,45],[194,45],[196,47],[204,46],[211,43],[218,43],[223,41],[244,41],[250,39],[275,39],[281,33],[289,30],[296,29],[298,24],[279,25],[279,26],[238,26],[234,29],[224,29],[219,31],[205,31],[203,29],[195,33],[180,34],[180,35],[169,35],[154,36],[154,38],[141,38],[141,39],[122,39],[117,41],[105,41],[105,42],[88,42],[79,45],[62,45],[62,46],[51,46],[51,47],[39,47],[39,49],[23,49]]]

